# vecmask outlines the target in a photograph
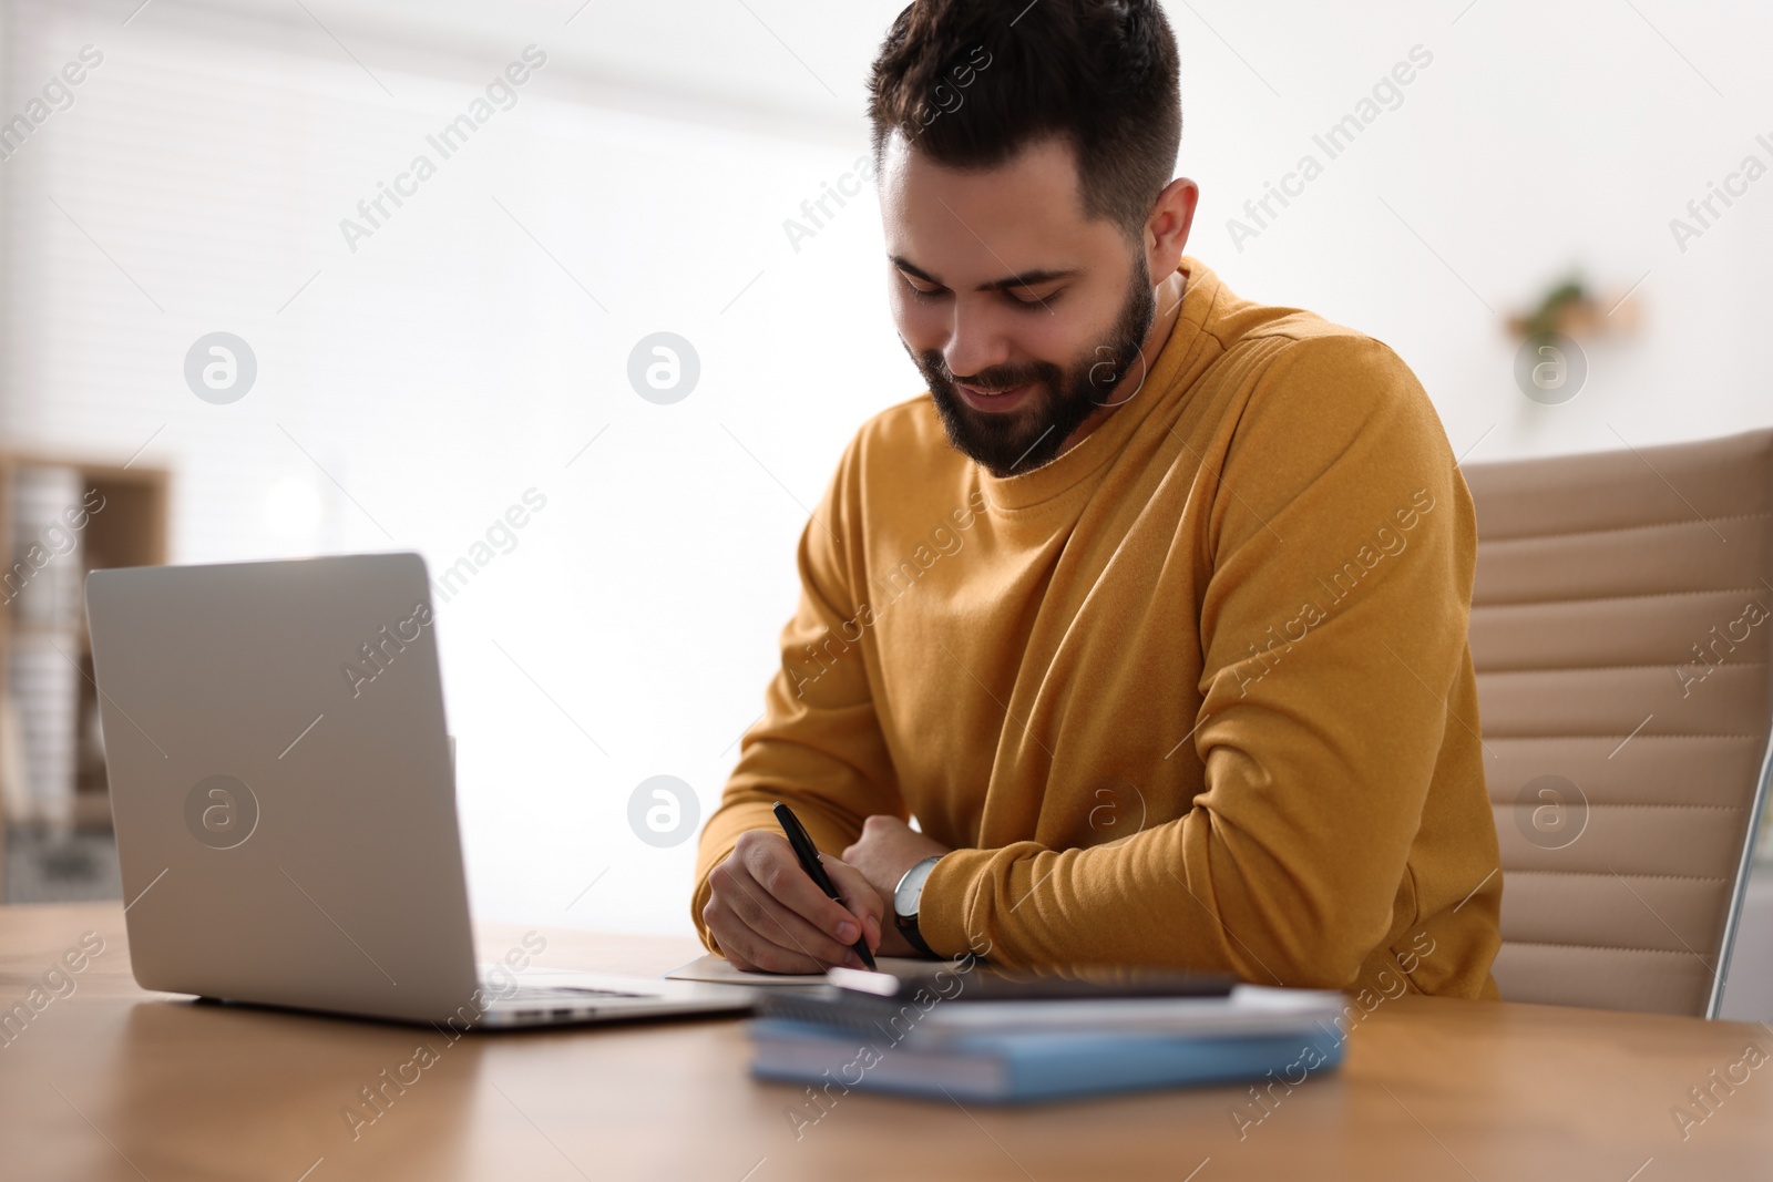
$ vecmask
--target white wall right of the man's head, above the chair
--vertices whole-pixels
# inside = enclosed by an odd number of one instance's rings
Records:
[[[1170,9],[1193,44],[1181,165],[1202,181],[1191,250],[1234,289],[1386,340],[1434,397],[1454,448],[1484,439],[1473,461],[1773,422],[1773,385],[1752,360],[1773,317],[1773,177],[1684,253],[1668,229],[1745,154],[1773,167],[1773,147],[1755,144],[1757,133],[1773,144],[1773,85],[1757,60],[1773,43],[1764,5],[1456,0],[1300,5],[1285,19],[1216,7],[1193,11],[1280,92],[1190,9]],[[1227,218],[1301,152],[1326,159],[1312,135],[1417,44],[1433,62],[1401,87],[1402,103],[1239,252]],[[1636,291],[1644,328],[1587,347],[1589,385],[1543,408],[1514,386],[1502,317],[1573,268],[1613,292],[1649,275]]]

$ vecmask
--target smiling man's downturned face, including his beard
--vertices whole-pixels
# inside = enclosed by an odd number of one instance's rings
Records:
[[[881,214],[894,323],[957,450],[1032,471],[1131,397],[1117,385],[1156,315],[1144,245],[1085,220],[1066,142],[963,172],[895,135]]]

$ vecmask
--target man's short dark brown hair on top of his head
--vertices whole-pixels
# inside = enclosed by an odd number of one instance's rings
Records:
[[[1175,172],[1183,97],[1156,0],[915,0],[869,78],[874,163],[901,131],[950,168],[1064,136],[1089,218],[1135,236]]]

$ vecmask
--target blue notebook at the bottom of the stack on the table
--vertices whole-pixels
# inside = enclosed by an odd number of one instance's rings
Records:
[[[787,1019],[752,1023],[759,1079],[956,1100],[1055,1100],[1140,1088],[1234,1083],[1275,1072],[1291,1085],[1335,1070],[1342,1038],[1287,1035],[993,1033],[892,1044]]]

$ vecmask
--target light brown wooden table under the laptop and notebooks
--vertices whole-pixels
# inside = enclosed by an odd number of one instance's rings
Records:
[[[800,1088],[746,1074],[741,1021],[445,1044],[191,1005],[135,985],[117,904],[0,907],[0,1007],[85,932],[105,950],[69,976],[74,992],[4,1031],[7,1180],[1773,1177],[1773,1035],[1753,1024],[1397,998],[1353,1024],[1339,1074],[1277,1088],[1261,1124],[1243,1086],[1021,1109],[849,1093],[803,1124],[787,1113],[819,1109]],[[484,929],[482,959],[519,936]],[[697,953],[686,939],[544,936],[543,968],[660,973]],[[434,1061],[402,1069],[418,1044]],[[372,1124],[344,1115],[397,1069],[417,1079],[388,1088]],[[1746,1081],[1727,1092],[1714,1079],[1732,1070]],[[1707,1085],[1709,1113],[1688,1093]]]

